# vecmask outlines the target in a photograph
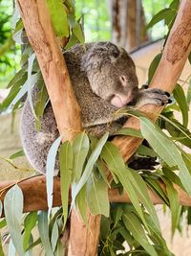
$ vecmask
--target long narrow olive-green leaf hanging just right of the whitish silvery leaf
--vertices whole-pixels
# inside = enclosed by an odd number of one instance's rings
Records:
[[[73,171],[73,149],[69,141],[63,143],[59,150],[59,164],[60,164],[60,181],[61,181],[61,200],[63,207],[64,226],[68,218],[68,199],[69,187],[72,181]]]

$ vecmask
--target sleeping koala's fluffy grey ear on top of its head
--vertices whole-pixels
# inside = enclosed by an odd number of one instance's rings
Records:
[[[120,51],[111,42],[97,42],[91,47],[81,59],[81,70],[88,72],[92,69],[100,70],[106,62],[115,62]]]

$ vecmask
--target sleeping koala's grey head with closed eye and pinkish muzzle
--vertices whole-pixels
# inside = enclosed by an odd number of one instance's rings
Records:
[[[138,78],[134,61],[127,52],[111,42],[98,42],[82,58],[94,93],[103,100],[123,107],[138,96]]]

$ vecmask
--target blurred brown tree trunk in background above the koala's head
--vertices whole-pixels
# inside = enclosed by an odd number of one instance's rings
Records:
[[[112,40],[131,51],[148,41],[145,16],[141,2],[136,0],[108,0],[112,19]]]

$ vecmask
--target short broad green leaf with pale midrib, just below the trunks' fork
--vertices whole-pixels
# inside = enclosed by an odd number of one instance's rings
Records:
[[[90,149],[90,141],[85,132],[75,136],[73,142],[74,168],[73,181],[78,181],[81,177],[83,166]]]

